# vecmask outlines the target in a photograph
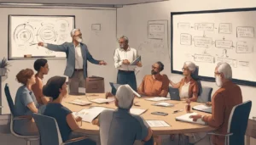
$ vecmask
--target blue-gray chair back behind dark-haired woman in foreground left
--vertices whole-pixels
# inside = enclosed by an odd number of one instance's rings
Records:
[[[63,141],[56,120],[43,114],[32,114],[32,116],[40,133],[40,145],[61,145]]]

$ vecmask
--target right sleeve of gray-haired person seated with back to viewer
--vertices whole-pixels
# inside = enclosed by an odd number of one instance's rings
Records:
[[[143,140],[145,137],[148,136],[149,125],[145,120],[143,120],[141,116],[136,116],[135,118],[139,123],[139,127],[137,127],[136,132],[136,140]]]

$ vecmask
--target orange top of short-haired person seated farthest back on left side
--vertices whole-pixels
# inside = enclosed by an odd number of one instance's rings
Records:
[[[43,104],[43,101],[41,99],[42,97],[44,97],[43,82],[37,75],[36,75],[36,83],[32,85],[32,92],[34,92],[34,95],[37,98],[38,103]]]

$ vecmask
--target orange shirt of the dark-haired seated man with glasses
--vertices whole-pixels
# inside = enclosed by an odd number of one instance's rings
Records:
[[[168,89],[169,79],[166,75],[159,75],[158,78],[154,78],[153,75],[145,75],[138,92],[144,92],[147,96],[166,97]]]

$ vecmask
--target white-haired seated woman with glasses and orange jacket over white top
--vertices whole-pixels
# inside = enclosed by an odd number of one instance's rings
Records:
[[[187,61],[183,65],[183,79],[178,83],[173,83],[170,80],[170,84],[174,88],[178,88],[179,97],[181,100],[186,100],[187,102],[196,102],[199,94],[199,84],[195,81],[194,72],[196,66],[193,62]]]

